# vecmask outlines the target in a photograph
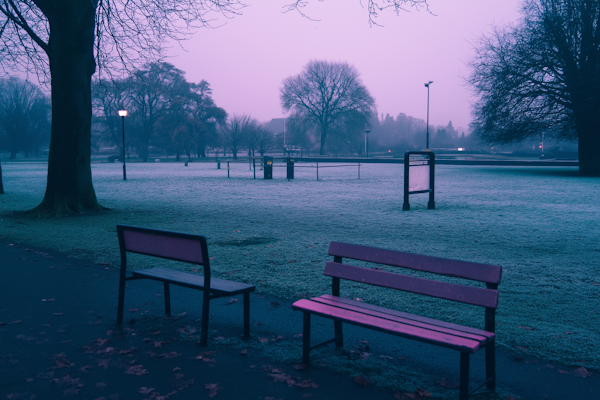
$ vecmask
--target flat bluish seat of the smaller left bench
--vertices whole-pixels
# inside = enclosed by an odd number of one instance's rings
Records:
[[[191,274],[189,272],[176,271],[168,268],[150,268],[132,271],[133,276],[143,276],[144,278],[155,279],[162,282],[172,283],[174,285],[185,286],[189,288],[204,288],[204,276]],[[246,283],[233,282],[225,279],[211,278],[210,291],[216,293],[227,293],[235,295],[243,292],[253,292],[256,288]]]

